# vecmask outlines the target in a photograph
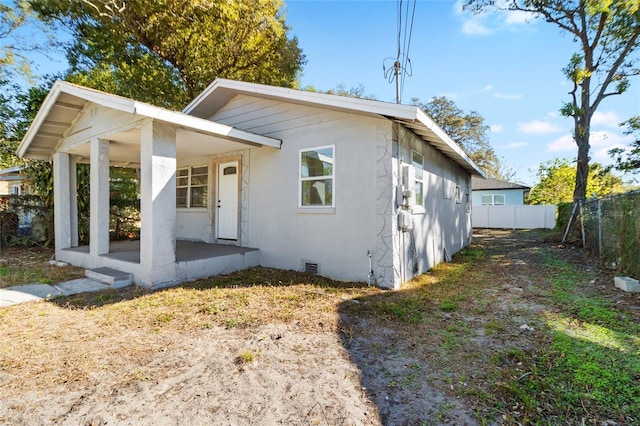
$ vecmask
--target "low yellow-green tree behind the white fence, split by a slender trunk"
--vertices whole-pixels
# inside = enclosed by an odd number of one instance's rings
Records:
[[[540,164],[538,183],[529,194],[530,204],[559,204],[573,201],[573,185],[576,179],[576,166],[568,159],[554,159]],[[599,163],[589,166],[589,196],[603,197],[622,192],[622,179]]]

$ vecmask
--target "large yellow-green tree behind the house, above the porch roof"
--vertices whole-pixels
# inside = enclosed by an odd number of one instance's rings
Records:
[[[217,77],[291,87],[305,62],[281,0],[30,3],[74,35],[76,81],[162,106],[183,106]]]

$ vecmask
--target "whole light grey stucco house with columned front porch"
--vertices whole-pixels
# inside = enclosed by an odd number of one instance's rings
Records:
[[[470,243],[483,176],[415,106],[221,79],[183,112],[56,82],[18,154],[53,159],[56,259],[146,287],[262,265],[399,288]],[[139,242],[109,242],[110,165],[139,168]]]

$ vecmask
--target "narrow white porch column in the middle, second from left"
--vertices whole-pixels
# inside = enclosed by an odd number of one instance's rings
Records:
[[[91,140],[89,253],[109,253],[109,142]]]

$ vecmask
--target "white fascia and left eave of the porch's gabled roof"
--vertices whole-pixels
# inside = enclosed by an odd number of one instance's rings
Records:
[[[48,159],[59,143],[68,136],[67,132],[76,118],[90,104],[231,141],[276,148],[281,145],[281,141],[274,138],[58,80],[22,139],[17,150],[18,156]]]

